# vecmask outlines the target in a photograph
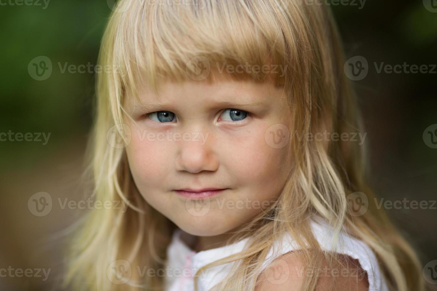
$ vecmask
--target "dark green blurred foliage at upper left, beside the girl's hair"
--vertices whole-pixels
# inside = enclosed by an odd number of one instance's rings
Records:
[[[42,3],[42,1],[40,1]],[[65,139],[87,132],[94,94],[94,74],[62,73],[58,62],[96,64],[110,9],[106,1],[50,1],[43,6],[0,6],[1,132],[51,132],[50,142],[1,142],[3,164],[37,162]],[[49,79],[28,74],[40,55],[52,61]],[[20,164],[20,163],[19,163]]]

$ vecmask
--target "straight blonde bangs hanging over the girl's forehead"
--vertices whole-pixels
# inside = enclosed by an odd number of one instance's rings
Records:
[[[251,7],[265,2],[122,2],[118,5],[127,10],[114,11],[109,24],[114,43],[107,61],[120,68],[119,81],[124,88],[133,89],[133,95],[135,83],[140,81],[148,82],[153,89],[164,80],[214,82],[218,76],[263,82],[270,72],[243,69],[229,73],[228,66],[271,68],[274,64],[287,69],[286,45],[277,14],[269,7],[264,13],[259,13],[259,7]],[[206,77],[205,72],[198,76],[202,68],[207,70]],[[277,86],[284,85],[286,74],[271,75]]]

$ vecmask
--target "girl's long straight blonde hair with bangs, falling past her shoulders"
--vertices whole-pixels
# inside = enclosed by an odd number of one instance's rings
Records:
[[[111,127],[122,129],[127,118],[123,102],[137,96],[135,84],[140,76],[153,89],[163,79],[190,80],[187,63],[199,56],[211,63],[282,65],[287,68],[285,75],[270,76],[276,86],[284,88],[290,104],[289,128],[304,134],[362,131],[355,95],[343,73],[340,37],[326,6],[299,0],[193,0],[190,5],[184,1],[165,5],[151,0],[119,2],[120,11],[114,9],[111,14],[99,55],[101,65],[117,70],[97,76],[97,116],[89,158],[93,197],[130,204],[124,213],[93,210],[83,219],[69,249],[65,276],[65,285],[71,284],[74,290],[163,289],[161,277],[140,278],[132,272],[128,283],[117,285],[106,271],[120,259],[132,266],[163,267],[176,227],[142,199],[125,149],[111,146],[114,140],[108,140],[115,138],[107,134]],[[244,72],[226,77],[264,82],[267,74]],[[308,218],[317,216],[334,233],[347,230],[367,243],[391,290],[423,291],[416,253],[382,209],[369,203],[364,215],[348,212],[350,193],[364,192],[369,200],[375,197],[364,181],[363,145],[292,137],[289,145],[293,167],[279,198],[243,228],[242,233],[253,234],[249,247],[202,268],[240,262],[217,289],[253,288],[270,246],[284,232],[295,237],[304,250],[305,265],[317,267],[323,261],[337,260],[335,254],[321,250],[309,231]],[[229,243],[242,236],[235,233]],[[310,276],[304,289],[313,290],[316,284],[317,277]]]

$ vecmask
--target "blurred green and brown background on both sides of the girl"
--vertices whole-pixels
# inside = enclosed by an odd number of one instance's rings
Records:
[[[45,281],[44,276],[0,277],[0,290],[56,290],[63,263],[57,235],[80,211],[54,207],[37,217],[27,203],[42,191],[62,201],[82,195],[78,178],[95,74],[62,73],[58,62],[95,65],[111,10],[105,0],[17,3],[0,1],[0,132],[51,135],[45,145],[0,142],[0,268],[45,268],[51,273]],[[373,63],[437,64],[437,11],[413,0],[369,0],[362,9],[332,9],[348,58],[361,55],[369,64],[367,77],[354,84],[368,132],[371,184],[385,199],[436,200],[437,149],[427,146],[423,131],[437,123],[437,74],[378,74]],[[38,56],[47,56],[53,65],[52,75],[43,81],[28,72],[29,62]],[[423,265],[437,259],[437,210],[388,213],[420,252]]]

